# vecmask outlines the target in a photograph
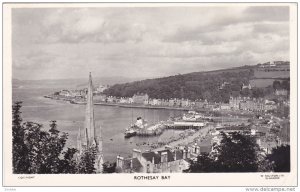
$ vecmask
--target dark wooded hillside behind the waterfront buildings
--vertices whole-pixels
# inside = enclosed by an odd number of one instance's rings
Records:
[[[146,79],[132,83],[116,84],[104,93],[117,97],[132,97],[136,93],[147,93],[150,98],[185,98],[191,100],[207,99],[213,102],[228,102],[230,96],[263,97],[271,93],[270,89],[252,88],[241,90],[255,79],[257,66],[194,72],[169,77]]]

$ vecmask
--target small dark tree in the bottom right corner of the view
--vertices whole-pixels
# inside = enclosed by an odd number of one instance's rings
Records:
[[[282,145],[273,148],[272,153],[267,157],[274,165],[275,172],[290,172],[290,146]]]

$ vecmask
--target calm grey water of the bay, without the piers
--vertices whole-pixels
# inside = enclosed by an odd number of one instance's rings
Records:
[[[44,98],[44,95],[61,90],[62,87],[43,87],[26,85],[13,88],[13,102],[22,101],[22,118],[43,124],[49,129],[50,120],[56,120],[59,131],[69,134],[66,147],[77,146],[79,127],[84,127],[85,105],[69,104]],[[166,109],[121,108],[116,106],[95,105],[95,124],[97,131],[102,127],[103,153],[105,161],[116,161],[117,155],[129,157],[134,148],[147,149],[148,143],[164,141],[180,134],[182,131],[166,130],[156,137],[124,138],[125,129],[137,117],[144,117],[149,123],[167,120],[169,117],[182,115],[182,111]],[[143,144],[143,145],[142,145]]]

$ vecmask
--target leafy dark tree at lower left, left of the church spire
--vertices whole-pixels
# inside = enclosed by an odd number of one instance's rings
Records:
[[[42,131],[38,123],[22,123],[21,104],[12,107],[13,173],[74,173],[76,149],[63,152],[68,134],[60,134],[56,121],[50,122],[49,131]]]

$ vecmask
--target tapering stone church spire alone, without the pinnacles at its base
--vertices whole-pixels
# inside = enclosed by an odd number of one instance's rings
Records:
[[[94,120],[94,103],[93,103],[93,82],[92,74],[89,74],[88,92],[86,96],[86,113],[85,113],[85,126],[89,143],[92,144],[95,140],[95,120]]]

